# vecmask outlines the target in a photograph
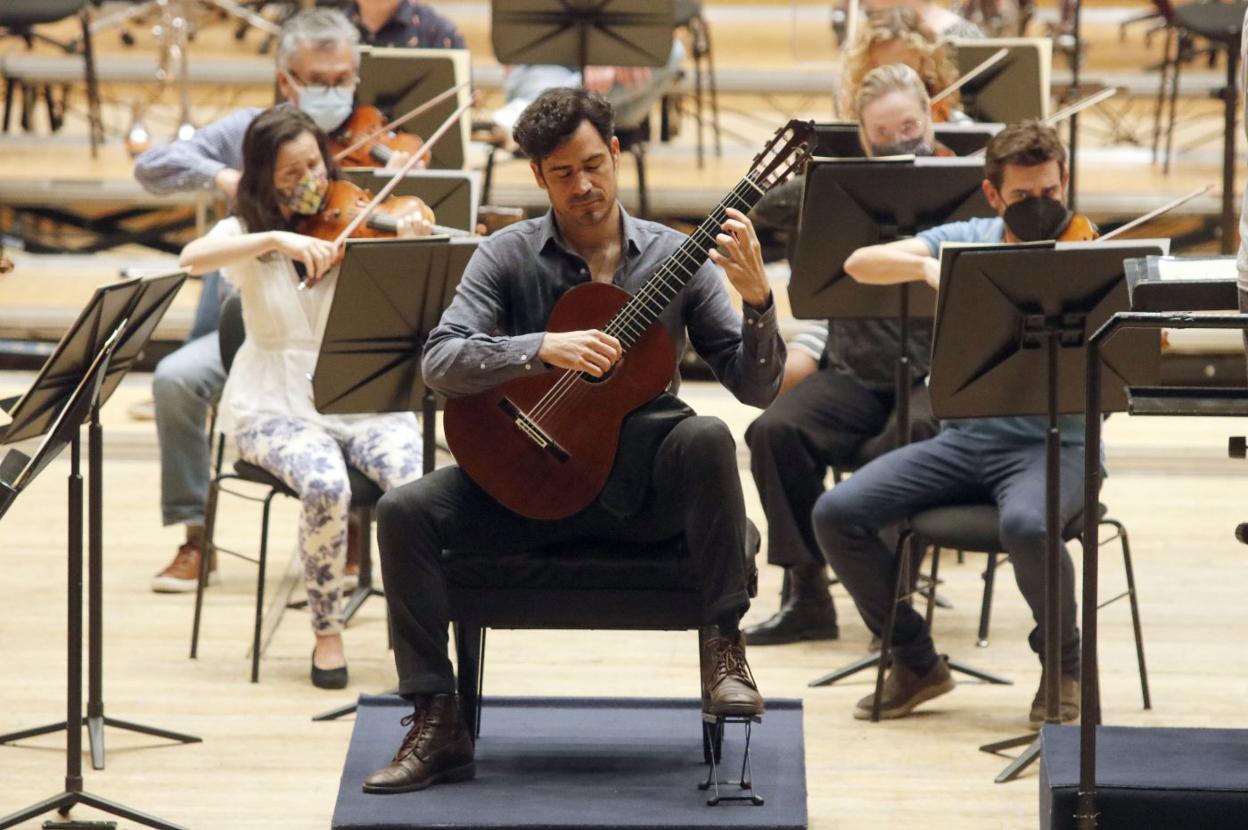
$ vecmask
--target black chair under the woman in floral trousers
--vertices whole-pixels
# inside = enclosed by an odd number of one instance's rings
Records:
[[[230,373],[235,353],[237,353],[238,347],[242,346],[246,336],[242,318],[242,300],[237,296],[230,297],[221,306],[221,327],[218,330],[218,338],[221,342],[221,363],[225,366],[226,374]],[[213,416],[213,422],[215,421],[216,416]],[[222,472],[221,468],[225,456],[225,434],[218,434],[215,462],[216,469],[212,482],[208,484],[208,503],[203,517],[203,552],[200,557],[200,578],[195,588],[195,620],[191,625],[191,659],[196,659],[198,654],[200,619],[203,609],[203,589],[207,585],[208,579],[208,563],[217,553],[227,553],[238,559],[251,562],[257,567],[256,613],[251,640],[251,681],[258,683],[260,657],[263,650],[261,644],[261,633],[263,630],[262,623],[265,613],[265,573],[268,564],[270,508],[272,505],[273,497],[276,496],[285,496],[286,498],[296,500],[298,500],[300,497],[298,493],[287,487],[283,481],[265,468],[251,464],[241,458],[233,462],[233,472]],[[359,590],[362,588],[372,587],[372,518],[373,512],[377,508],[377,502],[381,500],[382,491],[371,478],[349,464],[347,466],[347,476],[351,479],[351,510],[359,519],[359,588],[357,588],[357,590]],[[258,484],[260,487],[267,488],[267,492],[262,497],[251,496],[248,493],[223,487],[223,484],[228,482],[247,482],[251,484]],[[257,557],[250,557],[237,550],[230,550],[228,548],[223,548],[216,543],[217,510],[221,493],[230,493],[241,499],[257,502],[263,505],[260,522],[260,554]],[[368,592],[362,592],[361,595],[367,595],[367,593]],[[283,603],[280,608],[285,609],[286,604]],[[358,605],[354,603],[347,607],[347,613],[343,614],[344,622],[351,619],[351,615],[357,608]]]

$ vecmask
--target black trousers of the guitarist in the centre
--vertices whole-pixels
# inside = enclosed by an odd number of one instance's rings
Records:
[[[595,503],[567,519],[528,519],[500,505],[458,467],[398,487],[378,504],[377,537],[399,694],[456,689],[447,657],[443,550],[508,554],[578,539],[660,542],[684,533],[705,622],[735,622],[750,605],[745,527],[736,448],[718,418],[685,418],[668,433],[655,453],[649,498],[633,517]]]

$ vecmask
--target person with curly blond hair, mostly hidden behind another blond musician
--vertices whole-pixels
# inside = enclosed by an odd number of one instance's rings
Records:
[[[836,110],[846,119],[857,119],[854,101],[867,72],[877,66],[905,64],[919,72],[927,95],[936,95],[957,80],[948,45],[912,9],[882,9],[866,16],[865,25],[845,52]],[[957,92],[946,96],[932,112],[937,121],[967,121]]]

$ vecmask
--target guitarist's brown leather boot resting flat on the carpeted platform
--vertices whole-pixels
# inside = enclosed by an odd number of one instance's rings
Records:
[[[364,793],[412,793],[439,781],[468,781],[477,774],[458,695],[431,695],[401,723],[409,726],[407,736],[394,760],[364,779]]]

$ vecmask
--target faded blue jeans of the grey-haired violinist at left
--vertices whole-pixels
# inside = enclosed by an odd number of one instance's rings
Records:
[[[211,473],[208,408],[225,383],[216,332],[188,341],[156,366],[152,397],[165,524],[203,524]]]

